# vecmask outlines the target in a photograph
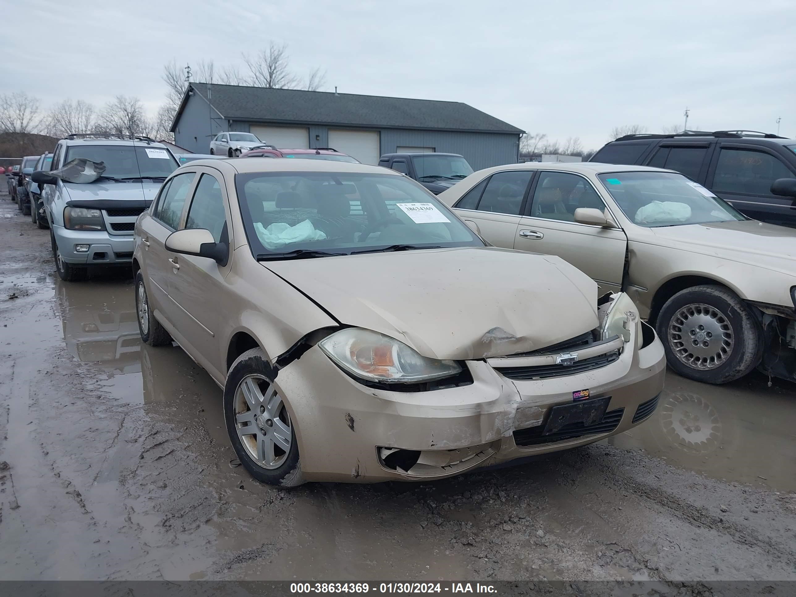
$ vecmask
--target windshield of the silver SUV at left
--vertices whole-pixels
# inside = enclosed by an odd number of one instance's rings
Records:
[[[104,178],[165,178],[177,170],[177,161],[162,147],[132,145],[73,145],[64,164],[75,158],[104,162]]]

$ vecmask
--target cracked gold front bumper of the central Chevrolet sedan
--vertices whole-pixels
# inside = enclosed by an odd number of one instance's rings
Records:
[[[487,359],[466,361],[472,383],[393,392],[358,383],[313,346],[281,369],[275,384],[290,402],[307,480],[445,478],[593,443],[641,423],[663,388],[665,356],[651,328],[643,342],[640,330],[630,326],[607,364],[544,379],[512,378],[505,370],[512,359]],[[509,364],[517,363],[521,359]],[[599,424],[583,433],[543,435],[551,409],[572,404],[586,390],[589,400],[607,399]]]

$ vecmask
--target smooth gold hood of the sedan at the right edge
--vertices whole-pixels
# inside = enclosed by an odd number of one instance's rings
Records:
[[[657,244],[793,274],[796,229],[757,220],[650,228]]]

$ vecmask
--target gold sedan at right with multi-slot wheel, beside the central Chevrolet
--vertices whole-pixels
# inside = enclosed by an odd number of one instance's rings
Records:
[[[796,199],[796,179],[771,192]],[[644,166],[497,166],[439,199],[498,247],[560,256],[603,291],[627,292],[682,376],[723,384],[758,367],[796,380],[794,228]]]

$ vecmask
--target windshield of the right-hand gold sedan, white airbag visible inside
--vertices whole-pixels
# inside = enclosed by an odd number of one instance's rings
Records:
[[[682,174],[613,172],[598,178],[625,216],[646,228],[747,219]]]

